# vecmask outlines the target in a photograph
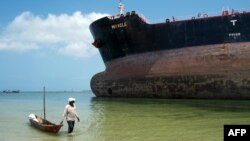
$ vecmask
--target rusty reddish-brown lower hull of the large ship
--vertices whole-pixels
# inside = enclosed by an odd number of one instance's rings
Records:
[[[250,42],[130,55],[91,80],[101,97],[250,99]]]

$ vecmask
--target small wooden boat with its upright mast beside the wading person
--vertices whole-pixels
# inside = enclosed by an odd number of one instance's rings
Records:
[[[35,114],[29,115],[30,124],[42,131],[45,132],[51,132],[51,133],[58,133],[58,131],[61,129],[63,124],[54,124],[46,120],[46,110],[45,110],[45,87],[43,88],[43,112],[44,112],[44,118],[39,117]]]

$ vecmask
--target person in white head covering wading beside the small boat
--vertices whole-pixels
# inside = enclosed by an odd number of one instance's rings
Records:
[[[78,122],[80,121],[77,113],[76,113],[76,106],[75,106],[75,98],[69,98],[69,103],[65,106],[63,112],[63,120],[66,117],[68,123],[68,133],[72,133],[75,126],[75,119],[77,118]],[[61,121],[61,124],[63,123]]]

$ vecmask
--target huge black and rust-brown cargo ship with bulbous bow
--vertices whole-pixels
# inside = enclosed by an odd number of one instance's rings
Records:
[[[97,97],[250,99],[250,13],[149,24],[135,11],[90,25],[105,70]]]

